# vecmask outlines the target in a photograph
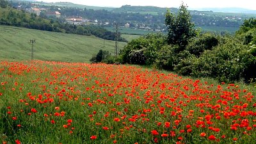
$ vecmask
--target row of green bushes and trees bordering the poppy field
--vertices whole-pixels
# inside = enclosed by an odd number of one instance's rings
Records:
[[[220,82],[256,83],[256,19],[244,20],[234,36],[195,29],[187,6],[166,12],[168,34],[147,34],[130,41],[119,57],[105,62],[139,64],[180,75],[216,78]]]

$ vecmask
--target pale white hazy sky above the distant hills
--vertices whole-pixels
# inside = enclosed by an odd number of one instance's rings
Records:
[[[255,0],[42,0],[45,2],[69,1],[88,6],[120,7],[125,4],[132,6],[159,6],[162,8],[178,8],[182,1],[188,8],[223,8],[239,7],[256,10]]]

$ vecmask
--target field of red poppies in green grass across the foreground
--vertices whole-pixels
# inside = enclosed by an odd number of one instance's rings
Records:
[[[254,95],[136,66],[2,61],[0,141],[256,143]]]

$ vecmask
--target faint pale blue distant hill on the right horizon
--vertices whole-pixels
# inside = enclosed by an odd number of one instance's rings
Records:
[[[213,11],[213,12],[223,12],[223,13],[251,13],[256,14],[256,10],[248,10],[245,8],[196,8],[192,10],[198,11]]]

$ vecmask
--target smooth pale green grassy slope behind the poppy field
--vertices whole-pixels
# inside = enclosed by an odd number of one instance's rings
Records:
[[[31,44],[35,39],[34,59],[43,61],[89,62],[100,49],[114,54],[115,41],[94,36],[38,31],[0,25],[0,60],[27,61],[31,59]],[[125,43],[119,43],[120,48]]]

